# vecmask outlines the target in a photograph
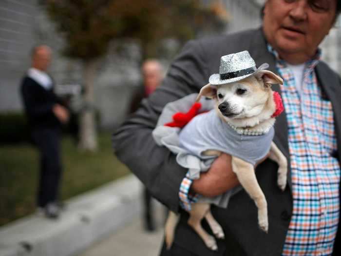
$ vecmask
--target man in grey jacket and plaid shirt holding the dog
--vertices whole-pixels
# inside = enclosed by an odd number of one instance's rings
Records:
[[[154,197],[181,213],[174,243],[169,251],[163,247],[162,256],[340,255],[341,79],[319,59],[318,48],[340,11],[340,0],[267,0],[262,28],[189,42],[163,85],[114,134],[117,156]],[[187,225],[179,204],[188,210],[190,194],[212,197],[237,186],[230,156],[217,158],[192,181],[151,132],[165,104],[198,93],[217,73],[221,56],[243,50],[284,79],[283,86],[272,86],[284,101],[274,142],[288,160],[288,184],[284,192],[277,188],[273,161],[257,166],[268,202],[268,234],[258,228],[245,191],[231,197],[227,209],[212,207],[226,236],[213,253]]]

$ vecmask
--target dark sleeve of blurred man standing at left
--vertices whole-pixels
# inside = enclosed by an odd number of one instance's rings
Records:
[[[25,109],[31,117],[43,117],[52,114],[54,102],[39,102],[36,97],[36,88],[31,86],[27,79],[24,79],[21,85],[21,95]]]

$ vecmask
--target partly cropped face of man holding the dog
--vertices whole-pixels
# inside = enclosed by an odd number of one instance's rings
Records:
[[[339,0],[267,0],[265,37],[283,59],[303,63],[316,53],[340,7]]]

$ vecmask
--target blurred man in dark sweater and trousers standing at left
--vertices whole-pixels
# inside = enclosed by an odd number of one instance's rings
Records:
[[[61,180],[61,125],[67,123],[69,111],[54,93],[54,81],[47,69],[51,48],[39,45],[32,50],[32,64],[21,81],[21,96],[31,129],[31,137],[40,154],[37,206],[48,218],[60,213],[58,192]]]

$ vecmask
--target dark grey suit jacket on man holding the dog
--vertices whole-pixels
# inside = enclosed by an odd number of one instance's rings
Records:
[[[179,211],[178,192],[187,170],[177,165],[175,156],[153,141],[152,130],[162,108],[170,101],[191,93],[198,93],[213,73],[219,72],[220,57],[248,50],[257,66],[267,62],[276,73],[275,59],[267,51],[262,29],[209,39],[190,41],[173,61],[164,83],[148,99],[142,101],[138,111],[114,133],[116,155],[141,179],[154,197],[172,211]],[[331,100],[334,110],[335,131],[341,160],[341,80],[325,63],[316,66],[319,85],[325,98]],[[274,85],[273,90],[280,92]],[[288,132],[285,113],[275,124],[274,141],[289,160]],[[290,166],[290,164],[289,164]],[[209,251],[187,225],[188,215],[180,211],[174,243],[198,256],[210,255],[281,255],[292,212],[291,175],[284,192],[277,187],[277,164],[266,160],[257,167],[257,179],[268,203],[269,233],[260,231],[257,209],[243,190],[229,201],[227,209],[212,207],[212,213],[222,225],[226,239],[218,241],[219,252]],[[207,226],[204,223],[204,226]],[[207,228],[207,227],[206,227]],[[207,228],[208,232],[209,229]],[[339,255],[340,224],[334,255]]]

